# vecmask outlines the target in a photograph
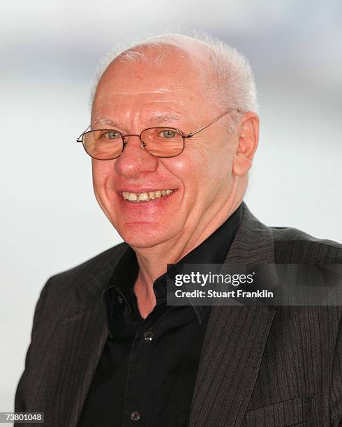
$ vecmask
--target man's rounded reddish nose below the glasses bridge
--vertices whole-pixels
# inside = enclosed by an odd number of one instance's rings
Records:
[[[158,158],[145,151],[139,135],[124,137],[124,151],[115,162],[115,170],[125,178],[133,178],[142,172],[155,172]]]

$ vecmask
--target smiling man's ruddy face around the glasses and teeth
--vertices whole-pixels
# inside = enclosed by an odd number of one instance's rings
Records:
[[[191,133],[222,113],[202,90],[191,61],[170,54],[154,66],[114,61],[98,84],[91,127],[115,128],[124,135],[151,126]],[[228,120],[227,115],[186,139],[184,151],[174,158],[151,156],[133,136],[119,158],[92,160],[96,198],[128,244],[149,248],[176,243],[224,209],[235,151]],[[158,190],[172,193],[148,202],[130,202],[122,195]]]

